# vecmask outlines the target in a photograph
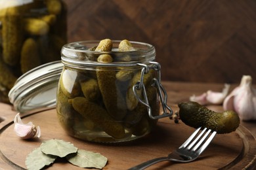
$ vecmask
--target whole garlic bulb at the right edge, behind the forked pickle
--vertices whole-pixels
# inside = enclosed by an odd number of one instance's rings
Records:
[[[241,120],[256,120],[256,89],[251,76],[242,77],[240,86],[224,99],[223,109],[236,111]]]

